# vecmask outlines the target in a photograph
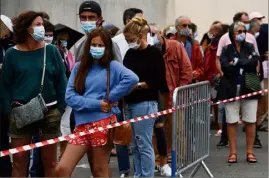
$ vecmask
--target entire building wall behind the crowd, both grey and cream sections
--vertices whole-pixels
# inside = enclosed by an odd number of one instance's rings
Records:
[[[268,16],[268,0],[96,0],[100,3],[106,23],[123,26],[123,11],[141,8],[149,22],[161,27],[174,24],[180,15],[186,15],[198,25],[199,35],[206,32],[215,20],[231,23],[238,11],[258,11]],[[13,17],[24,10],[47,12],[53,23],[63,23],[77,30],[79,5],[83,0],[1,0],[1,14]],[[265,22],[268,22],[266,18]]]

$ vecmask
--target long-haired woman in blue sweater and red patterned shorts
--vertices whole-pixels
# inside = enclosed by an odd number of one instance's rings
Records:
[[[113,60],[112,41],[107,31],[96,29],[87,40],[81,62],[75,65],[69,78],[65,96],[66,103],[74,110],[75,133],[115,123],[120,112],[118,100],[138,82],[132,71]],[[108,95],[107,72],[110,73]],[[71,176],[76,164],[88,153],[93,176],[109,177],[110,136],[110,130],[104,130],[70,140],[56,169],[57,176]]]

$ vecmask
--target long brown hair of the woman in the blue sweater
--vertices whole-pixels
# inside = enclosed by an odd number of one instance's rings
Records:
[[[106,68],[108,67],[108,64],[113,60],[114,55],[112,51],[112,40],[109,36],[109,33],[104,28],[98,28],[93,30],[89,35],[88,39],[85,44],[84,48],[84,54],[81,58],[81,62],[78,68],[78,72],[75,79],[75,90],[80,95],[82,95],[85,91],[85,80],[88,75],[89,70],[93,66],[94,59],[92,55],[90,54],[90,48],[91,48],[91,41],[92,39],[100,36],[102,41],[105,44],[105,54],[104,56],[98,60],[99,64]]]

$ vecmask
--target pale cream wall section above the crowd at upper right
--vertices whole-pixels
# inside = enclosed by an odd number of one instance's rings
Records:
[[[181,15],[189,16],[198,26],[199,37],[209,30],[212,22],[219,20],[223,23],[232,23],[236,12],[253,11],[267,16],[264,20],[268,23],[268,0],[174,0],[174,11],[168,11],[173,19]],[[184,2],[184,5],[183,5]],[[172,20],[172,19],[171,19]]]

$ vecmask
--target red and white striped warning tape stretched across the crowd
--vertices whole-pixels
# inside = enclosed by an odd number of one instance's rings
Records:
[[[268,92],[267,89],[261,90],[259,92],[253,92],[253,93],[238,96],[238,97],[235,97],[235,98],[219,101],[219,102],[212,103],[212,104],[218,105],[218,104],[222,104],[222,103],[233,102],[233,101],[241,100],[241,99],[244,99],[244,98],[249,98],[251,96],[263,94],[263,93],[266,93],[266,92]],[[189,104],[185,104],[185,105],[180,105],[180,106],[177,106],[176,108],[164,110],[164,111],[149,114],[149,115],[146,115],[146,116],[133,118],[133,119],[130,119],[130,120],[127,120],[127,121],[117,122],[117,123],[114,123],[114,124],[111,124],[111,125],[107,125],[106,127],[99,127],[99,128],[91,129],[89,131],[79,132],[79,133],[71,134],[71,135],[68,135],[68,136],[62,136],[62,137],[58,137],[58,138],[54,138],[54,139],[50,139],[50,140],[45,140],[45,141],[38,142],[38,143],[33,143],[33,144],[30,144],[30,145],[24,145],[24,146],[21,146],[21,147],[1,151],[0,152],[0,157],[16,154],[16,153],[19,153],[19,152],[29,151],[29,150],[32,150],[34,148],[39,148],[39,147],[43,147],[43,146],[47,146],[47,145],[52,145],[52,144],[59,143],[59,142],[62,142],[62,141],[67,141],[67,140],[70,140],[70,139],[74,139],[74,138],[77,138],[77,137],[80,137],[80,136],[93,134],[93,133],[98,132],[98,131],[103,131],[103,130],[106,130],[106,129],[116,128],[116,127],[119,127],[121,125],[125,125],[125,124],[128,124],[128,123],[139,122],[139,121],[146,120],[146,119],[156,118],[156,117],[161,116],[161,115],[167,115],[167,114],[176,112],[176,110],[178,110],[180,108],[185,108],[187,106],[197,104],[197,103],[201,103],[201,102],[205,102],[205,101],[210,101],[210,98],[195,101],[193,103],[189,103]]]

